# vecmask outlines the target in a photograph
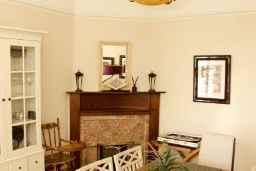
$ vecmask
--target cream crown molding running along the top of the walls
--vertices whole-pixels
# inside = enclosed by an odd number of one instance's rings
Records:
[[[211,13],[199,13],[180,16],[162,16],[162,17],[141,17],[141,16],[103,16],[103,15],[91,15],[91,14],[78,14],[76,12],[61,11],[52,7],[41,6],[38,4],[25,2],[22,0],[0,0],[5,4],[11,4],[19,7],[26,7],[27,9],[33,9],[36,11],[47,12],[50,14],[56,14],[59,16],[71,17],[74,19],[99,19],[109,21],[132,21],[132,22],[167,22],[167,21],[182,21],[190,19],[208,19],[216,17],[230,17],[230,16],[244,16],[256,14],[256,9],[245,9],[237,11],[225,11],[225,12],[211,12]]]

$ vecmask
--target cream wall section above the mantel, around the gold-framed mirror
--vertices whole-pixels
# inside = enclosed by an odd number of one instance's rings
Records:
[[[98,90],[99,40],[131,42],[131,73],[139,76],[137,90],[148,90],[151,24],[100,19],[75,19],[73,73],[84,73],[82,90]],[[72,78],[72,83],[75,83]],[[75,90],[75,85],[73,85]]]

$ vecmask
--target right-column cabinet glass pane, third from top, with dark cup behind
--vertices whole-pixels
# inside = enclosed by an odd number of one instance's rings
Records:
[[[36,120],[36,98],[27,98],[26,104],[26,122]]]

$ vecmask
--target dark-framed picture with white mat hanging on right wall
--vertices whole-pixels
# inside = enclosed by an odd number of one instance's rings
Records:
[[[230,104],[231,55],[194,56],[193,101]]]

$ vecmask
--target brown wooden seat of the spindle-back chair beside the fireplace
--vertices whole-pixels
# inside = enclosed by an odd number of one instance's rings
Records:
[[[52,160],[52,155],[46,155],[44,157],[44,161],[46,165],[60,165],[60,164],[65,164],[66,162],[71,162],[72,160],[76,159],[76,156],[72,156],[69,154],[64,154],[61,152],[57,152],[53,154],[53,160]]]

